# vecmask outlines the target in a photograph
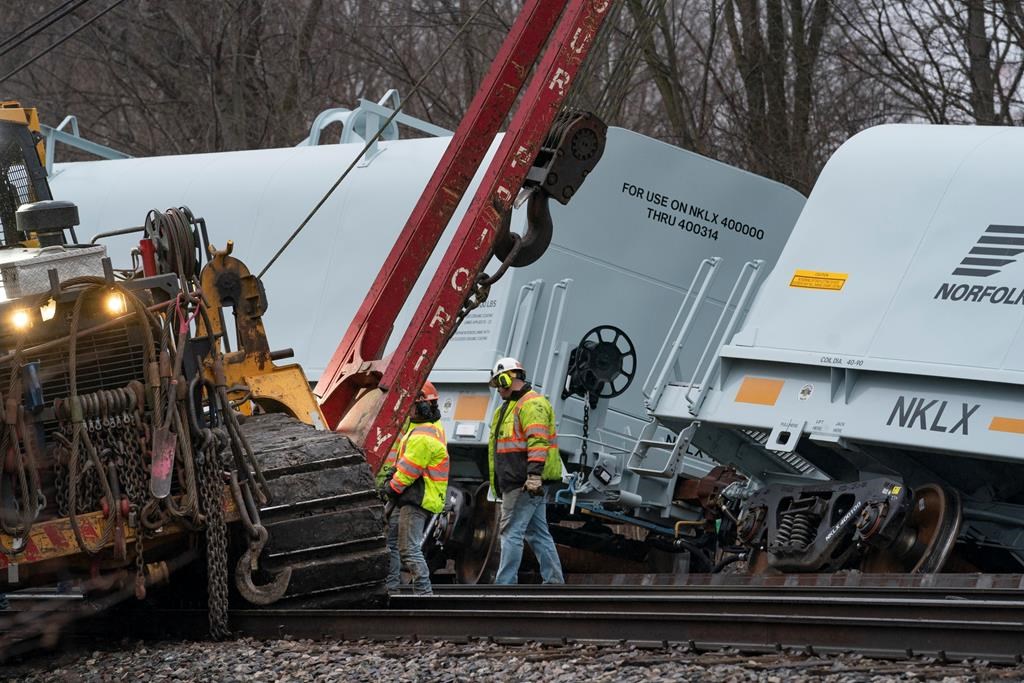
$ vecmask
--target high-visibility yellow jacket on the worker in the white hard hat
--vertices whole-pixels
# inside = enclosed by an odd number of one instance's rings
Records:
[[[529,474],[540,474],[545,481],[561,479],[555,412],[545,396],[527,387],[495,409],[487,465],[496,496],[521,488]]]

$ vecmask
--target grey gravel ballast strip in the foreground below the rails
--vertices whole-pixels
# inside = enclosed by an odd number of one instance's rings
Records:
[[[985,661],[879,660],[857,655],[693,652],[631,645],[502,645],[492,642],[124,642],[117,648],[38,656],[0,668],[0,678],[38,683],[131,681],[544,681],[587,683],[833,683],[1021,681],[1024,667]]]

